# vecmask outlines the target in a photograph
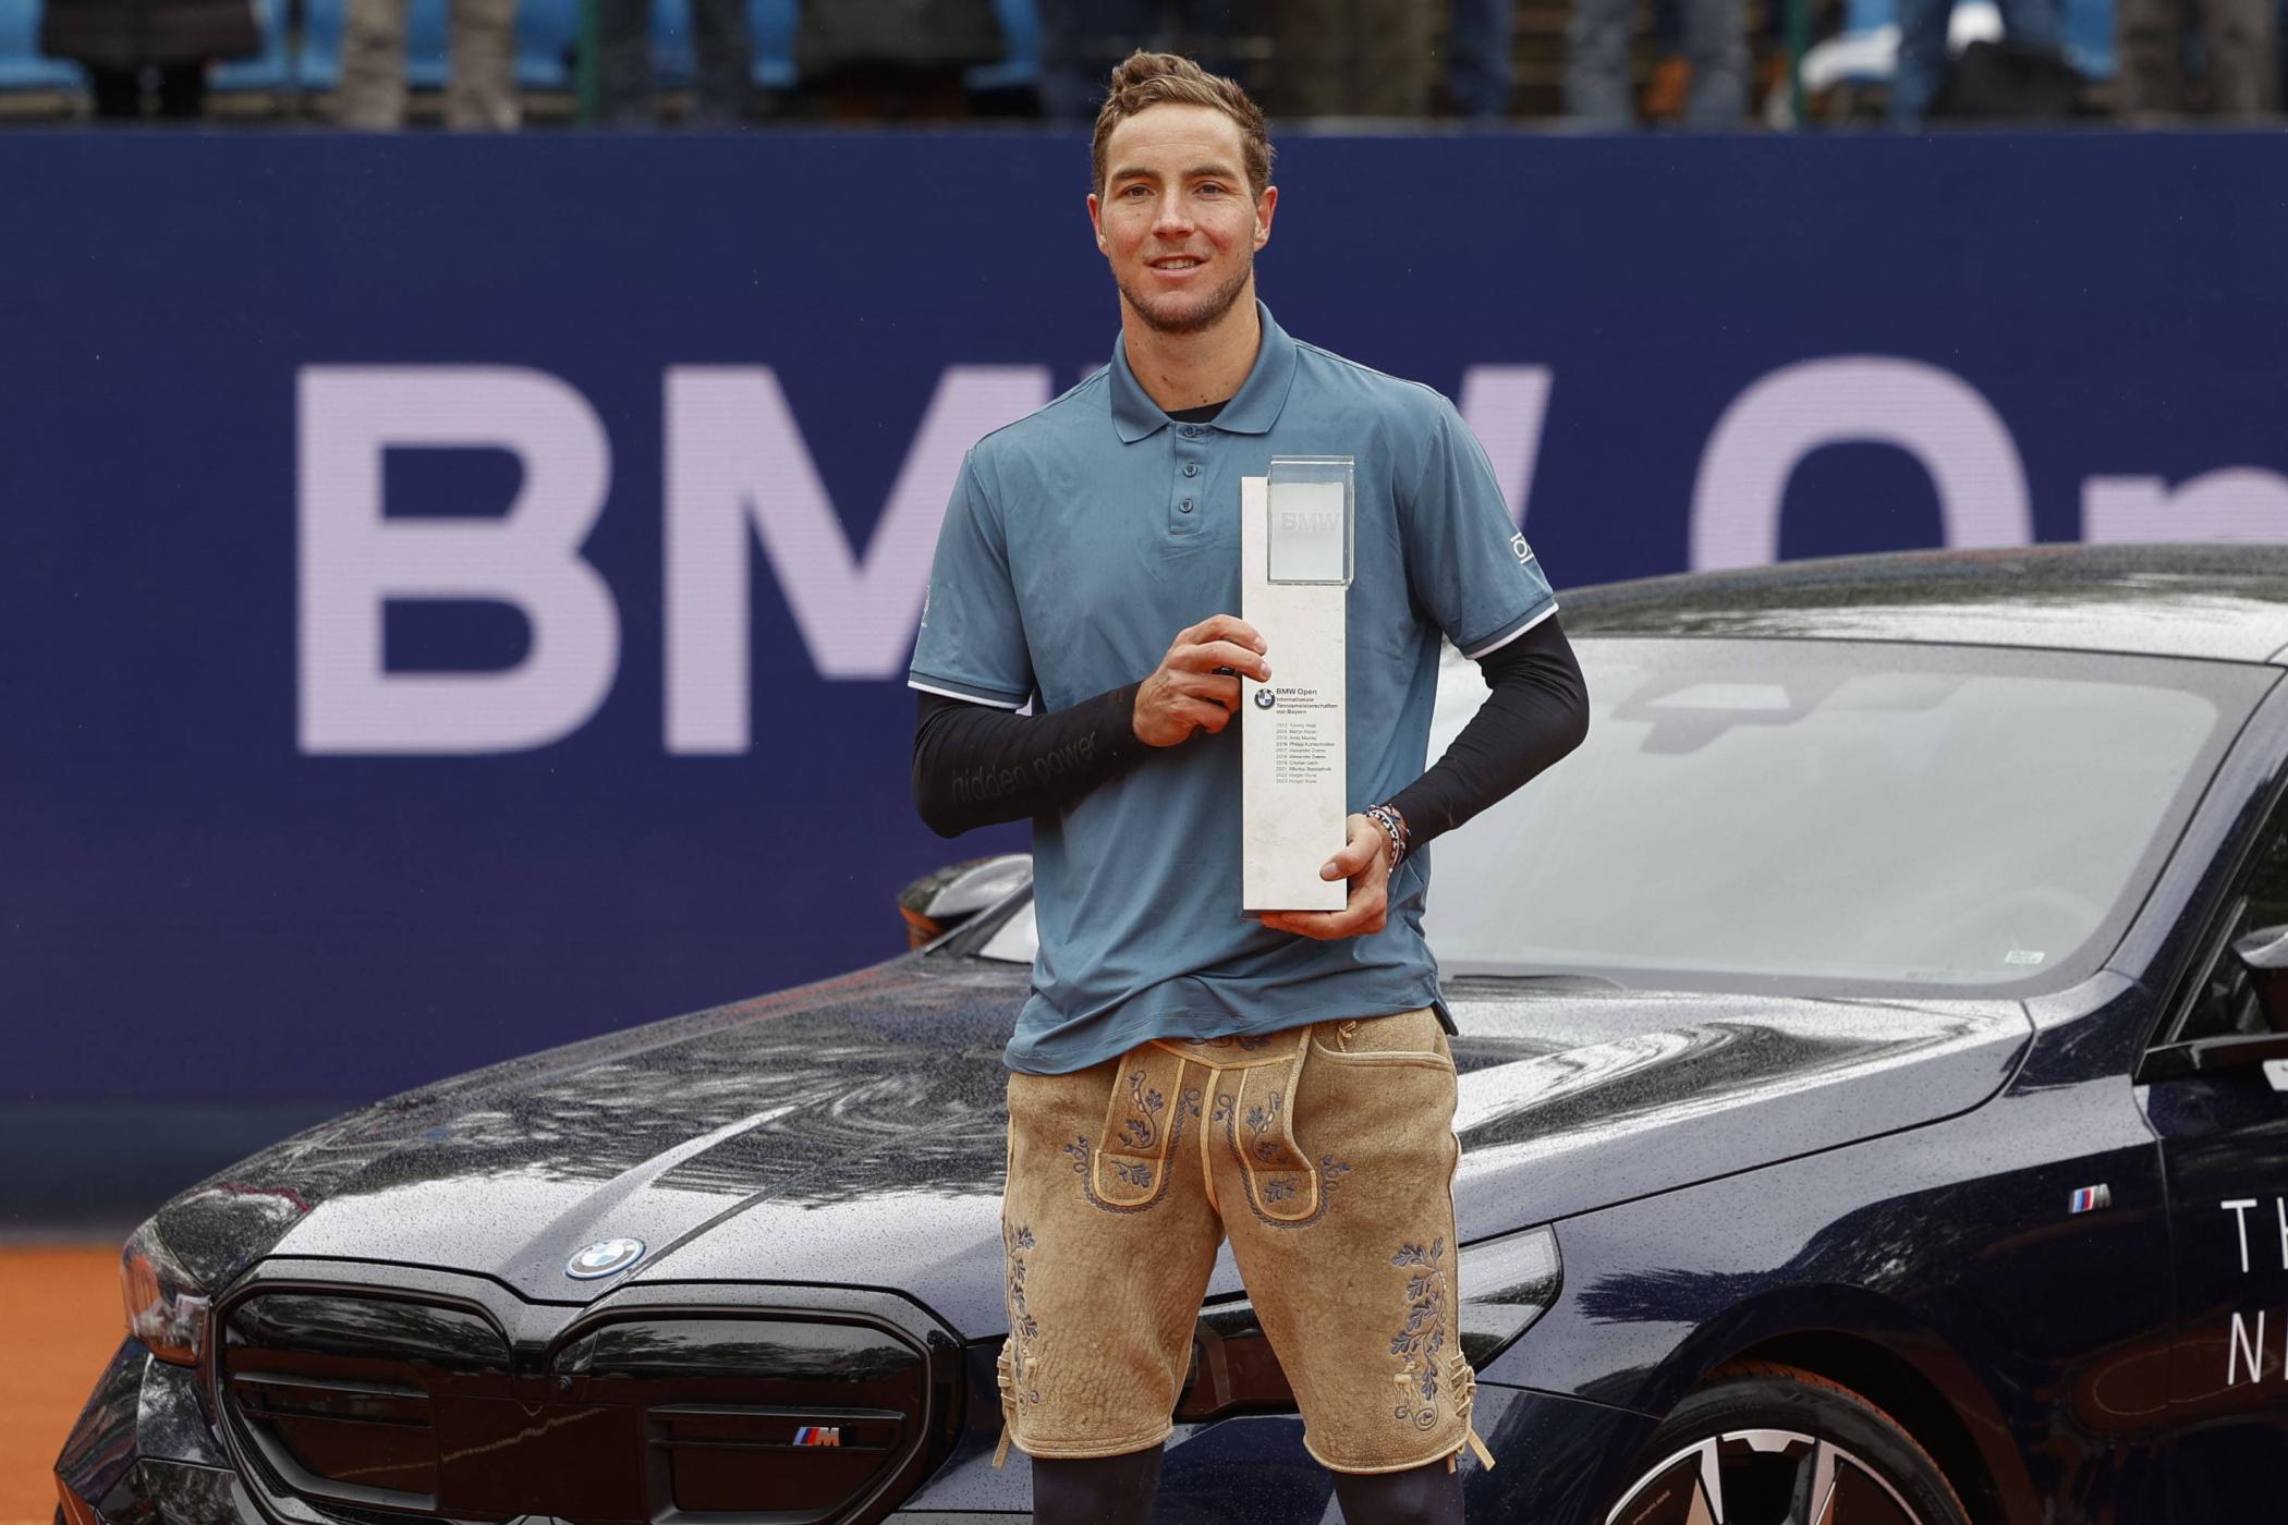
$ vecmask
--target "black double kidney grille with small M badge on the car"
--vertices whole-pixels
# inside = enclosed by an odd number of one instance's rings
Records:
[[[261,1486],[339,1520],[863,1523],[929,1461],[929,1354],[874,1322],[641,1310],[522,1365],[474,1308],[281,1290],[220,1386]]]

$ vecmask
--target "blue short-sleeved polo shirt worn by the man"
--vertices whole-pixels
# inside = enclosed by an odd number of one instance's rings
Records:
[[[908,681],[1050,713],[1133,684],[1240,613],[1240,478],[1272,455],[1357,462],[1350,809],[1421,777],[1439,638],[1483,656],[1556,608],[1485,450],[1439,393],[1297,343],[1263,345],[1213,423],[1176,423],[1112,364],[961,462]],[[1265,654],[1279,672],[1279,652]],[[1318,942],[1240,917],[1240,727],[1151,748],[1034,819],[1041,953],[1007,1059],[1064,1075],[1146,1038],[1268,1033],[1441,1006],[1421,912],[1430,853],[1380,933]]]

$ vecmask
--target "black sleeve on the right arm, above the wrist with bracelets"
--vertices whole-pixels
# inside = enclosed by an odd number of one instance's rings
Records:
[[[1487,652],[1478,672],[1492,690],[1485,704],[1446,754],[1391,798],[1407,819],[1409,848],[1462,825],[1588,736],[1588,686],[1556,615]]]

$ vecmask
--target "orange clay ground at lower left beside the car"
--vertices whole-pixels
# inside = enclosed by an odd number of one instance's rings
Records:
[[[55,1518],[55,1454],[119,1340],[117,1244],[0,1248],[0,1525]]]

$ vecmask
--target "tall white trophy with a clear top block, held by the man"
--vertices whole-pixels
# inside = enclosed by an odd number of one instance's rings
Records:
[[[1240,679],[1240,910],[1343,910],[1325,880],[1345,832],[1345,620],[1357,469],[1350,455],[1274,455],[1240,478],[1240,617],[1272,681]]]

